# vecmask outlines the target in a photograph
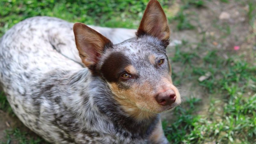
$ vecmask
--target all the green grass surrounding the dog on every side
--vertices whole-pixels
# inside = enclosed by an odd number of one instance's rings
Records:
[[[167,18],[175,26],[174,29],[180,33],[182,30],[197,28],[191,22],[191,8],[207,9],[206,1],[182,0],[179,12],[169,17],[168,6],[176,1],[160,2],[164,5],[164,11],[167,11]],[[228,0],[220,2],[231,3]],[[250,0],[246,2],[243,2],[244,5],[248,4],[246,22],[252,24],[256,15],[255,3]],[[37,15],[91,25],[137,28],[147,3],[148,0],[2,0],[0,36],[19,21]],[[212,27],[219,30],[220,37],[230,36],[233,30],[229,23],[217,24],[217,21],[213,22]],[[205,35],[205,32],[201,34]],[[183,96],[184,103],[174,110],[172,122],[163,121],[166,137],[171,143],[177,144],[255,143],[256,67],[246,59],[246,55],[216,49],[209,41],[205,36],[196,43],[185,39],[169,52],[172,54],[172,67],[181,68],[179,72],[173,72],[173,82],[181,86],[192,82],[191,87],[198,87],[204,97],[196,98],[192,94]],[[193,45],[196,46],[193,48]],[[223,53],[227,58],[222,56]],[[208,72],[211,76],[198,81],[200,76]],[[3,92],[0,93],[0,110],[13,114]],[[32,137],[28,132],[15,127],[6,130],[6,138],[2,143],[12,141],[24,144],[45,143],[41,138]]]

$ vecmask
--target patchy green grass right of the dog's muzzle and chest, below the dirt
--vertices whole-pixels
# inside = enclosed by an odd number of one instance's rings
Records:
[[[180,59],[186,61],[186,58],[182,57],[186,53],[180,53]],[[169,125],[164,124],[167,138],[172,143],[255,142],[256,67],[237,60],[237,57],[230,57],[226,61],[215,61],[216,56],[216,52],[209,52],[203,58],[204,66],[192,68],[193,75],[198,77],[204,75],[206,71],[211,71],[213,74],[209,79],[199,82],[205,91],[209,92],[208,114],[196,114],[199,111],[196,105],[202,104],[200,99],[185,100],[185,106],[176,108],[174,111],[176,121]],[[187,63],[190,62],[187,61]],[[213,66],[207,67],[209,64]],[[215,75],[218,74],[221,78],[215,79]]]

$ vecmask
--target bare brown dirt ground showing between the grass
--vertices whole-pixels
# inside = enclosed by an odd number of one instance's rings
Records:
[[[253,53],[256,52],[255,48],[255,33],[256,22],[249,24],[248,11],[249,6],[243,2],[237,2],[231,0],[229,3],[221,3],[220,1],[206,1],[206,5],[202,8],[192,7],[184,10],[189,16],[190,22],[195,26],[192,30],[179,31],[176,28],[177,22],[172,21],[170,28],[172,29],[171,41],[173,40],[186,40],[191,43],[191,47],[186,48],[184,51],[197,51],[196,44],[206,40],[207,46],[205,51],[199,50],[200,57],[204,57],[207,54],[207,50],[216,50],[220,52],[225,58],[228,53],[236,55],[246,55],[246,59],[250,60],[256,65],[256,58]],[[256,1],[255,1],[256,3]],[[177,12],[179,9],[179,1],[170,6],[170,13]],[[224,18],[220,18],[221,13],[226,12],[227,15]],[[254,24],[254,25],[253,25]],[[234,46],[240,46],[238,51],[234,50]],[[169,56],[174,55],[174,47],[168,47],[167,51]],[[172,63],[172,70],[174,73],[179,73],[184,70],[184,67],[178,63]],[[202,113],[208,108],[208,97],[205,97],[206,93],[204,89],[198,85],[198,81],[182,81],[177,86],[181,89],[180,93],[183,97],[194,96],[202,99],[204,104],[201,106]],[[163,119],[172,119],[171,113],[164,113]],[[0,140],[6,138],[5,130],[18,127],[21,131],[31,133],[17,117],[10,116],[4,111],[0,111]],[[11,143],[17,143],[11,141]]]

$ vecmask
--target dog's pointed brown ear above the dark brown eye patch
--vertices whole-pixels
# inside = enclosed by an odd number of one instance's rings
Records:
[[[83,23],[75,23],[73,30],[79,56],[84,65],[92,70],[104,48],[112,46],[112,42]]]

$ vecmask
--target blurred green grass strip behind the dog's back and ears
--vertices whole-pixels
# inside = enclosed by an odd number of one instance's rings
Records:
[[[148,0],[1,0],[0,36],[28,17],[52,16],[106,27],[137,28]],[[168,6],[168,0],[160,0]]]

